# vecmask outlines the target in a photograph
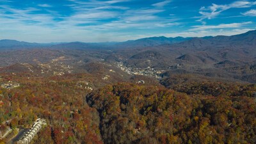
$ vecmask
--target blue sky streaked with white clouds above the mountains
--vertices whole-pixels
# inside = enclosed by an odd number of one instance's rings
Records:
[[[236,35],[255,22],[250,0],[0,0],[0,39],[27,42]]]

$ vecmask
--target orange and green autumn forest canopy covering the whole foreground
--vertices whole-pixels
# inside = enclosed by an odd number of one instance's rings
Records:
[[[165,88],[106,83],[95,88],[95,79],[90,74],[29,79],[3,74],[2,82],[15,81],[20,87],[0,88],[0,122],[12,120],[15,130],[45,118],[49,125],[33,143],[256,141],[255,84],[188,82]],[[95,90],[85,89],[88,83]]]

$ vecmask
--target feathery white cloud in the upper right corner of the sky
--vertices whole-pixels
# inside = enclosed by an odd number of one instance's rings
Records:
[[[234,1],[230,4],[212,4],[208,7],[203,6],[199,10],[199,13],[202,15],[199,17],[199,21],[204,19],[213,19],[220,15],[221,12],[224,12],[230,8],[249,8],[255,4],[255,1]]]

